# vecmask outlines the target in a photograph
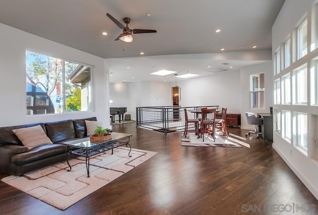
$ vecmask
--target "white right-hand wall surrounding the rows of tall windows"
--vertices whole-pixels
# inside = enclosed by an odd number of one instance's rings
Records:
[[[308,15],[308,32],[312,31],[311,15],[312,5],[314,2],[317,1],[285,1],[272,27],[273,56],[277,48],[286,41],[289,35],[291,35],[291,38],[294,42],[297,41],[297,38],[294,37],[293,32],[299,25],[300,21],[302,21],[306,15]],[[311,34],[309,33],[309,41],[311,41],[310,36]],[[308,44],[310,46],[310,42]],[[292,51],[295,53],[295,49],[292,48]],[[305,63],[310,65],[312,58],[318,56],[317,53],[317,50],[315,50],[314,52],[309,52],[306,56],[297,61],[294,57],[294,61],[292,62],[291,66],[286,70],[280,72],[280,74],[275,75],[272,81],[274,81],[274,79],[279,78],[281,75],[287,72],[291,72],[300,65],[303,65]],[[292,112],[298,111],[308,113],[308,155],[306,156],[306,154],[298,150],[297,146],[293,145],[293,143],[291,144],[285,141],[281,137],[281,135],[276,132],[274,132],[273,135],[273,148],[279,153],[279,155],[285,160],[289,167],[295,172],[295,174],[302,180],[306,187],[318,199],[318,160],[317,157],[312,157],[315,153],[317,154],[317,144],[315,144],[315,137],[317,138],[317,106],[286,105],[284,107],[283,105],[274,104],[274,109],[281,110],[284,108],[286,108],[287,110],[291,110]]]

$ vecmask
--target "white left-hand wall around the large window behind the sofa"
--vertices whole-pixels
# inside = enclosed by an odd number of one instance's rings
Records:
[[[0,127],[96,116],[109,127],[104,59],[0,23]],[[26,115],[25,51],[34,51],[92,66],[92,111]],[[107,119],[107,120],[106,120]]]

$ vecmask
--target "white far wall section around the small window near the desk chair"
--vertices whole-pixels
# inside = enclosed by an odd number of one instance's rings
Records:
[[[265,103],[264,108],[250,108],[250,75],[265,73]],[[240,113],[241,129],[254,130],[255,126],[248,125],[245,112],[269,113],[269,107],[273,106],[273,63],[272,61],[252,65],[240,70]]]

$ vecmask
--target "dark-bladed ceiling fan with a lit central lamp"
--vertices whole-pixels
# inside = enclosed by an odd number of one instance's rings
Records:
[[[109,13],[106,13],[106,15],[121,29],[123,29],[123,33],[121,33],[116,39],[116,40],[122,40],[124,42],[127,43],[131,43],[133,42],[133,36],[132,33],[134,34],[143,34],[143,33],[156,33],[156,30],[149,30],[149,29],[130,29],[128,27],[128,24],[130,23],[130,18],[129,17],[125,17],[123,18],[125,25],[123,25],[122,23],[120,23],[117,19],[115,19],[112,15],[110,15]]]

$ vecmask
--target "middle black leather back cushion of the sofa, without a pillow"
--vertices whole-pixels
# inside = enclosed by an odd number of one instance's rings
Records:
[[[75,138],[73,120],[45,123],[47,136],[53,143]]]

